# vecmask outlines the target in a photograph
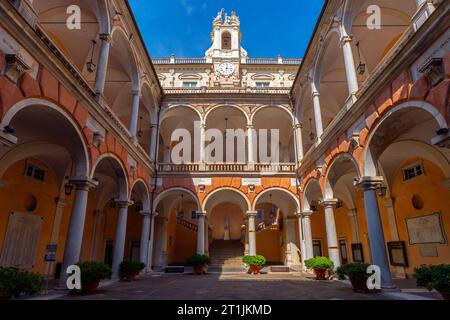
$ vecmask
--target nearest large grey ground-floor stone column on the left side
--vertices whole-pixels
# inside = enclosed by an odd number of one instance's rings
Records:
[[[67,268],[76,264],[80,260],[89,189],[98,185],[97,181],[88,177],[71,178],[69,181],[75,185],[76,194],[64,248],[64,258],[61,272],[61,284],[63,286],[66,285]]]

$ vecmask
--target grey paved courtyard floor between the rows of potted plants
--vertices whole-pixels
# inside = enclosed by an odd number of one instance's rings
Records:
[[[109,281],[95,293],[50,294],[64,300],[421,300],[440,299],[436,292],[416,288],[411,280],[396,283],[402,291],[362,294],[341,281],[316,281],[304,273],[152,274],[133,282]],[[41,297],[41,299],[44,297]]]

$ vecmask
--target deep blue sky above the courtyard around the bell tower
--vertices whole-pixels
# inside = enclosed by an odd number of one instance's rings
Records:
[[[204,56],[221,8],[241,20],[250,57],[301,58],[324,0],[130,0],[152,58]]]

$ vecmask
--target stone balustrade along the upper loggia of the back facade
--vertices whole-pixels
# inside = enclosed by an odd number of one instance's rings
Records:
[[[245,164],[245,163],[160,163],[158,170],[161,173],[260,173],[274,175],[279,173],[292,174],[295,172],[295,163],[276,164]]]

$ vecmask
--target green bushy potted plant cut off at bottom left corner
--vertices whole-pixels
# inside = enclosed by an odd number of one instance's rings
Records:
[[[42,291],[44,277],[15,267],[0,267],[0,300]]]

